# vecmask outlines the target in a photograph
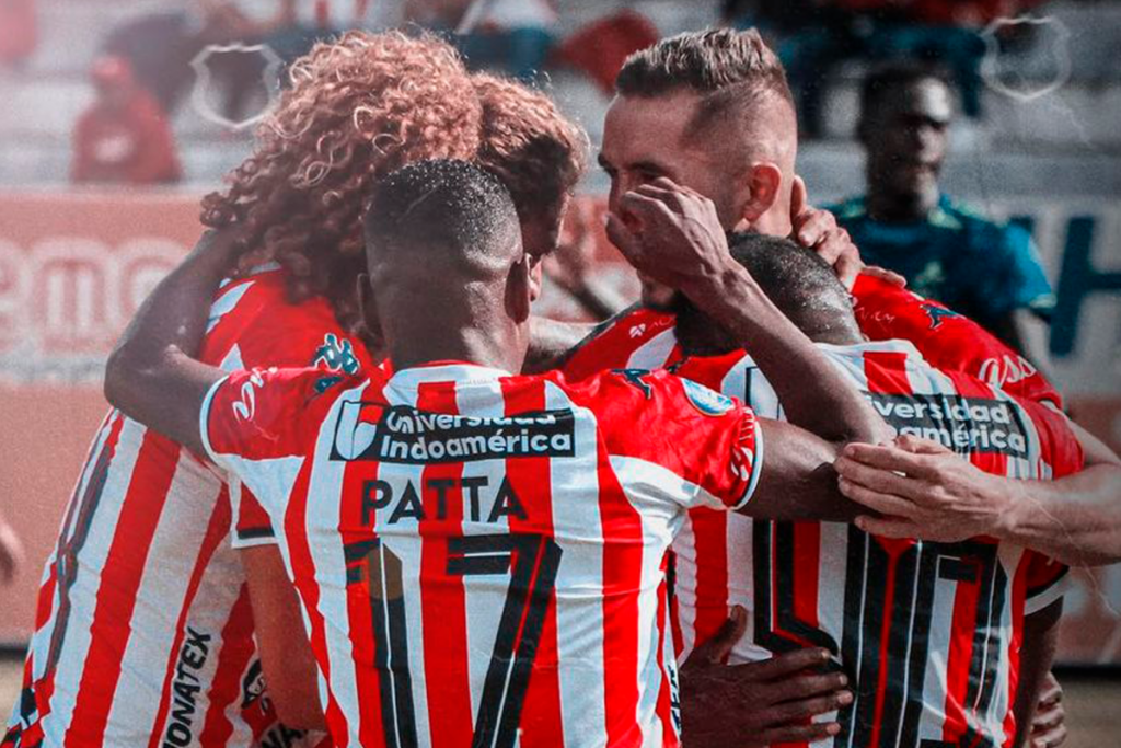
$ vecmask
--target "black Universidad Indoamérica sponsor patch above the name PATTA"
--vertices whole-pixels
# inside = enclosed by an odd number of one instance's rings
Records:
[[[426,413],[405,406],[346,403],[332,460],[400,464],[479,462],[575,454],[572,410],[537,410],[484,418]]]

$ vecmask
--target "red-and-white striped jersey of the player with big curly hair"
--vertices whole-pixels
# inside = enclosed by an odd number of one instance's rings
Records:
[[[229,369],[369,366],[322,298],[265,270],[215,295],[202,357]],[[232,496],[231,496],[232,493]],[[300,745],[261,677],[231,547],[237,484],[117,410],[94,440],[39,590],[11,746]],[[268,525],[249,524],[250,535]]]

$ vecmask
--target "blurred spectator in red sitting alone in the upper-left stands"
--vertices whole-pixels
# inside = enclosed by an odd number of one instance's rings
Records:
[[[182,176],[167,117],[123,57],[93,65],[96,100],[74,128],[76,184],[166,184]]]

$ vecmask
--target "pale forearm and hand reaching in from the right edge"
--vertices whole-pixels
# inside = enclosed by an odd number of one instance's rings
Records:
[[[1121,561],[1121,459],[1076,424],[1085,468],[1054,481],[990,475],[941,444],[847,445],[841,492],[883,518],[856,524],[886,537],[961,541],[990,535],[1068,565]]]

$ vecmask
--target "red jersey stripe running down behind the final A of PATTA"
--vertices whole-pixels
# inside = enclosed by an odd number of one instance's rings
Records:
[[[544,410],[545,382],[532,387],[513,386],[513,380],[502,380],[506,401],[504,415],[512,416],[532,410]],[[506,474],[517,496],[532,496],[534,519],[508,515],[511,533],[540,533],[554,537],[553,477],[548,458],[522,458],[506,461]],[[536,570],[534,574],[536,579]],[[521,744],[525,746],[564,745],[564,723],[560,713],[560,676],[557,655],[557,600],[556,590],[549,592],[549,607],[541,627],[541,636],[534,657],[534,671],[526,689],[521,708]],[[519,639],[520,640],[520,639]]]

